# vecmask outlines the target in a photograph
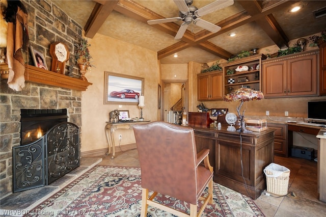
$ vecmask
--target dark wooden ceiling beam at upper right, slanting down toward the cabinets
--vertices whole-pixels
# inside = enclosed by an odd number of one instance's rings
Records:
[[[256,0],[239,1],[239,3],[251,16],[262,14],[263,9],[259,2]],[[280,24],[277,22],[273,14],[267,14],[261,19],[255,19],[255,21],[279,48],[285,48],[289,46],[289,39],[285,35],[284,31],[282,30]]]

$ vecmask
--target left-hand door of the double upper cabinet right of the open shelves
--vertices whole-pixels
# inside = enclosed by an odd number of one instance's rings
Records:
[[[286,62],[263,64],[263,93],[265,97],[286,96]]]

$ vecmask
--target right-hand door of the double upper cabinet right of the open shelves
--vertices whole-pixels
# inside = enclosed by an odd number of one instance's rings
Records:
[[[317,94],[317,55],[287,60],[287,95]]]

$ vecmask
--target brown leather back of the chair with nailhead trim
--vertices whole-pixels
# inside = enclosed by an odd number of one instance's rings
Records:
[[[156,121],[134,125],[133,131],[142,187],[196,204],[201,189],[193,128]]]

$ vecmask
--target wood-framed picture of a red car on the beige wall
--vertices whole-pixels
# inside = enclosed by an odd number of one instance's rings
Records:
[[[139,104],[144,78],[105,71],[104,104]]]

